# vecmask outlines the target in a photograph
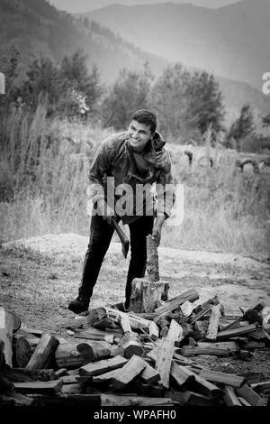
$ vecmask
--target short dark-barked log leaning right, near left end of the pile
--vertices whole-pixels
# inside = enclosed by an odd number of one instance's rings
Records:
[[[55,336],[52,336],[49,333],[43,334],[40,338],[40,343],[35,348],[29,363],[25,368],[28,370],[46,368],[49,361],[54,356],[58,345],[59,341]]]

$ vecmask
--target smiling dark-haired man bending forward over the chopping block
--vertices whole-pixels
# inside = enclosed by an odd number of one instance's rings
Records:
[[[78,297],[68,305],[76,314],[89,307],[94,284],[112,240],[112,217],[130,227],[130,266],[124,309],[129,308],[131,281],[145,274],[147,235],[152,234],[157,245],[160,242],[161,229],[170,215],[175,194],[170,157],[156,128],[156,115],[139,110],[131,116],[128,131],[110,136],[95,154],[89,172],[90,197],[94,205],[90,241]],[[156,202],[153,201],[154,183]],[[121,196],[121,192],[124,195]]]

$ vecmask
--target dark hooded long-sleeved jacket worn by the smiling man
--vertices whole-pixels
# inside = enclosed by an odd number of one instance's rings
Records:
[[[115,207],[118,200],[125,199],[128,205],[126,213],[118,213],[116,207],[116,213],[121,216],[124,224],[142,215],[151,215],[153,207],[156,207],[157,215],[165,214],[169,217],[175,202],[175,192],[171,160],[164,148],[165,143],[156,132],[149,140],[146,152],[139,155],[130,148],[126,131],[104,140],[95,153],[89,172],[93,203],[99,198],[105,198],[111,207]],[[143,204],[136,198],[139,186],[144,189]],[[128,190],[124,191],[123,197],[121,189],[125,188]],[[153,203],[154,198],[156,201]]]

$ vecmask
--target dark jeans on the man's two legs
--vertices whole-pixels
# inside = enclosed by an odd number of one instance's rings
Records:
[[[130,227],[130,266],[125,290],[125,307],[130,305],[131,281],[135,277],[144,277],[146,271],[146,237],[152,234],[154,217],[139,217],[129,224]],[[112,240],[114,228],[103,217],[95,215],[91,219],[90,241],[85,254],[82,281],[79,296],[91,298],[94,284],[100,272],[103,258]]]

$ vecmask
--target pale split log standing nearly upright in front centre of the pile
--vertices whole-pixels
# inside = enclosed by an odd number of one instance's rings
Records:
[[[164,337],[157,348],[157,361],[155,369],[160,375],[160,384],[169,388],[169,377],[172,359],[175,351],[175,342],[172,338]]]

